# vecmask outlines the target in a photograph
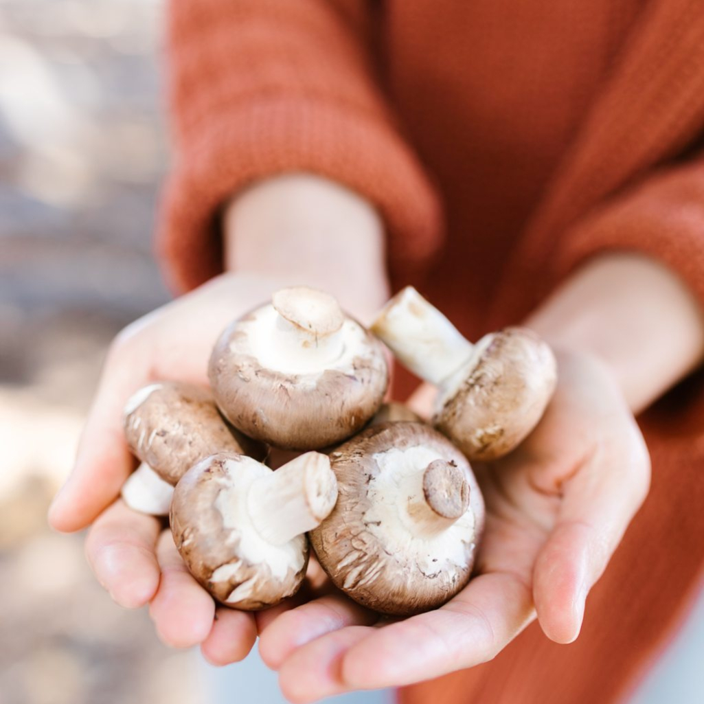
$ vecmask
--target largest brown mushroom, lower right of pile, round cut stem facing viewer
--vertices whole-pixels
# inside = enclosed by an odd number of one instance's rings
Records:
[[[470,579],[484,501],[469,463],[417,422],[370,427],[330,455],[338,499],[310,532],[318,562],[360,604],[407,616]]]

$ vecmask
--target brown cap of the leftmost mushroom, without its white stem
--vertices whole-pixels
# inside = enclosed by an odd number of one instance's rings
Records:
[[[185,382],[139,389],[127,401],[124,427],[130,450],[170,484],[216,452],[265,455],[225,421],[208,389]]]

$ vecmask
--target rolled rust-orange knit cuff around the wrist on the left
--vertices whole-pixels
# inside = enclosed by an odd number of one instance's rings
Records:
[[[271,96],[204,127],[180,154],[163,198],[157,249],[175,291],[222,270],[222,206],[256,180],[284,172],[328,177],[373,203],[386,225],[392,265],[417,265],[439,246],[434,190],[383,120],[316,99]]]

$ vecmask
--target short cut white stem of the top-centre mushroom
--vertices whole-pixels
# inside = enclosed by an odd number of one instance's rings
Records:
[[[277,356],[295,360],[301,370],[320,369],[341,356],[344,313],[332,296],[298,286],[277,291],[272,305],[278,315],[270,343]]]

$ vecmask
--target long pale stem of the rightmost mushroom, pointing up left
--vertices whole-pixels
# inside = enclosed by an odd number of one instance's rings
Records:
[[[474,345],[412,286],[382,308],[370,328],[414,374],[439,385],[471,357]]]

